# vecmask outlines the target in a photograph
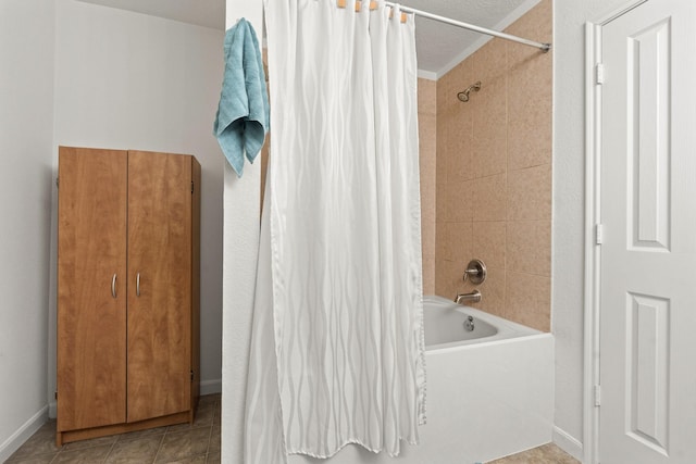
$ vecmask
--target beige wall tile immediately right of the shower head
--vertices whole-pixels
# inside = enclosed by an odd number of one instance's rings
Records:
[[[482,85],[472,97],[474,114],[472,140],[472,167],[475,177],[505,173],[508,152],[507,80],[500,79]]]

